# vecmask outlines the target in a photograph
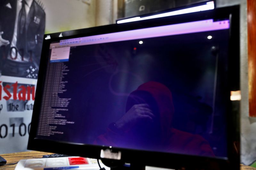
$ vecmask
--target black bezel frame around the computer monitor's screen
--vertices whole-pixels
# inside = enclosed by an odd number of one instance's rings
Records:
[[[50,43],[63,39],[70,39],[83,36],[91,36],[104,33],[113,33],[127,31],[132,29],[140,29],[152,26],[162,26],[169,24],[177,24],[183,22],[191,22],[210,18],[229,18],[230,19],[230,43],[228,56],[228,85],[229,90],[226,92],[226,100],[229,103],[226,115],[232,115],[227,120],[227,139],[228,139],[228,157],[212,158],[202,156],[191,156],[165,152],[149,152],[123,148],[114,148],[113,152],[121,151],[121,162],[128,162],[140,166],[159,166],[175,169],[239,169],[240,167],[240,124],[239,124],[239,102],[230,100],[230,91],[240,90],[239,85],[239,6],[219,8],[210,11],[201,11],[171,17],[156,18],[143,20],[132,23],[113,24],[108,26],[99,26],[93,28],[79,29],[63,32],[63,37],[59,37],[60,33],[49,34],[51,39],[43,42],[42,55],[40,61],[39,76],[36,87],[36,99],[30,128],[28,141],[29,150],[38,150],[44,152],[62,153],[68,155],[83,156],[88,158],[100,158],[102,149],[109,149],[107,146],[96,146],[89,144],[76,144],[61,141],[50,141],[36,138],[36,131],[39,120],[39,112],[42,99],[43,84],[45,78],[48,49]],[[44,35],[46,38],[47,35]],[[160,163],[160,164],[159,164]]]

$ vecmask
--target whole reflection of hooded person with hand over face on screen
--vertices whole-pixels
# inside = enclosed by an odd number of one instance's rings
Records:
[[[126,114],[111,123],[95,144],[214,156],[203,137],[172,128],[173,113],[170,90],[158,82],[144,83],[129,95]]]

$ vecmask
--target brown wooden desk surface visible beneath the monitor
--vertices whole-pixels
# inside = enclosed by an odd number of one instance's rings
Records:
[[[39,151],[31,151],[31,152],[17,152],[17,153],[7,153],[0,154],[4,159],[7,160],[7,164],[18,162],[20,159],[33,159],[33,158],[42,158],[43,155],[48,155],[52,153],[48,152],[39,152]],[[9,165],[9,166],[0,166],[1,170],[14,170],[17,164]],[[241,170],[256,170],[256,168],[241,165]]]

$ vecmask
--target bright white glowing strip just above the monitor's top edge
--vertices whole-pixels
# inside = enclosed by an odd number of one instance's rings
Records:
[[[214,9],[214,1],[211,1],[211,2],[207,2],[206,5],[200,5],[200,6],[196,6],[196,7],[186,8],[183,10],[166,12],[166,13],[151,15],[151,16],[142,17],[142,18],[134,17],[134,18],[122,19],[122,20],[117,21],[117,24],[133,22],[133,21],[141,21],[141,20],[152,19],[152,18],[161,18],[161,17],[168,17],[168,16],[173,16],[173,15],[187,14],[187,13],[192,13],[192,12],[213,10],[213,9]]]

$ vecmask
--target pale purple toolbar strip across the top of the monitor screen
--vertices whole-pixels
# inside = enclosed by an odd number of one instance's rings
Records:
[[[56,46],[81,46],[99,43],[108,43],[116,41],[136,40],[142,38],[153,38],[161,36],[179,35],[186,33],[198,33],[205,31],[229,29],[229,20],[216,21],[207,19],[202,21],[187,22],[181,24],[172,24],[167,26],[156,26],[131,31],[122,31],[117,33],[108,33],[93,35],[75,39],[61,40],[60,43],[52,43],[50,48]]]

